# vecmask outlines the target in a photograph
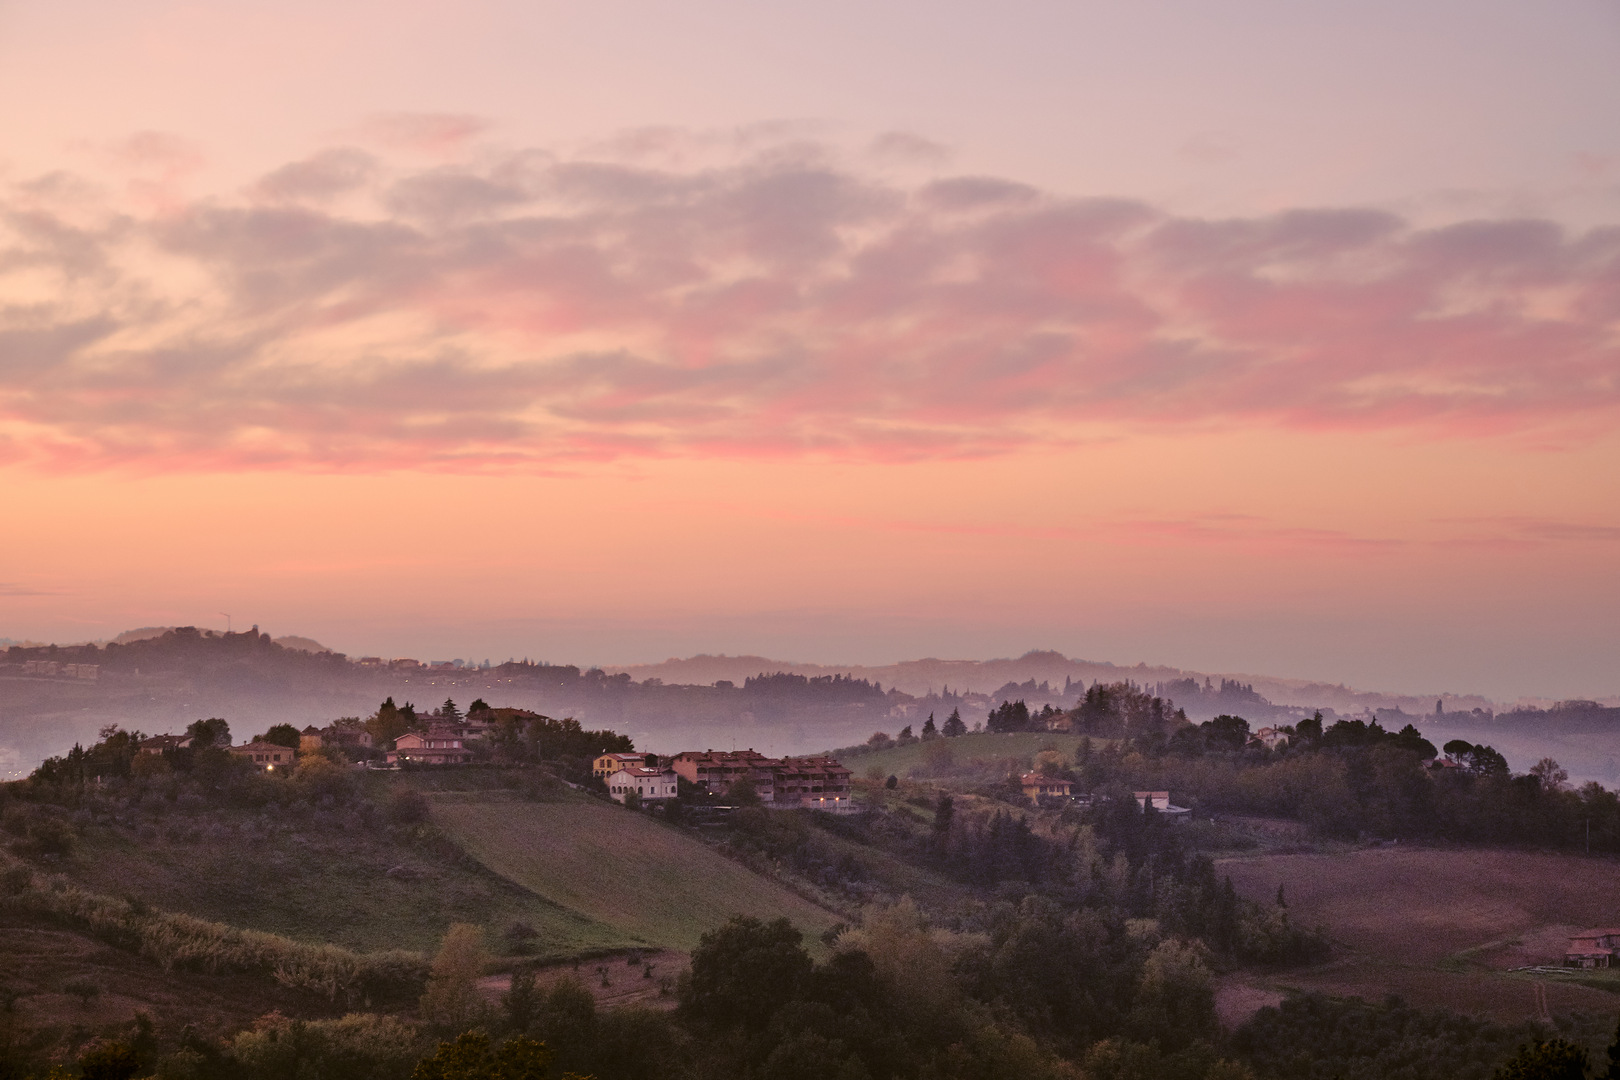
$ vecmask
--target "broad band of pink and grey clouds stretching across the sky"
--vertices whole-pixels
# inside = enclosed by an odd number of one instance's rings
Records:
[[[332,147],[238,199],[96,191],[0,191],[0,458],[928,458],[1187,424],[1589,432],[1620,405],[1620,230],[1192,220],[906,186],[802,142],[723,165]]]

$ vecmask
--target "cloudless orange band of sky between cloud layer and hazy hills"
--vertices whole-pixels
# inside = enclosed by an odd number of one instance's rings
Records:
[[[797,648],[784,659],[1058,646],[1278,670],[1299,659],[1277,635],[1314,627],[1336,644],[1291,674],[1371,678],[1377,649],[1340,653],[1335,627],[1430,656],[1479,648],[1481,627],[1605,640],[1620,528],[1591,500],[1604,478],[1602,505],[1620,504],[1617,449],[1251,431],[572,476],[13,468],[0,604],[10,633],[55,640],[230,610],[356,654],[572,662],[765,651],[757,623],[765,644]],[[1119,653],[1155,633],[1168,656]],[[1468,674],[1435,678],[1468,688]]]

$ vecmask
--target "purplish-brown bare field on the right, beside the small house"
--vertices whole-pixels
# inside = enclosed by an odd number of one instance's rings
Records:
[[[1557,965],[1571,933],[1620,925],[1617,860],[1401,845],[1230,858],[1217,873],[1262,904],[1283,886],[1294,921],[1320,925],[1335,942],[1330,963],[1246,976],[1251,986],[1372,1001],[1393,993],[1416,1006],[1520,1020],[1537,1015],[1539,981],[1550,1012],[1620,1010],[1620,996],[1592,984],[1510,972]]]

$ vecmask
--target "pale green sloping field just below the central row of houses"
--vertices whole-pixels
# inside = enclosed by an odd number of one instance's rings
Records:
[[[839,921],[695,837],[585,795],[528,801],[442,792],[431,800],[434,823],[484,866],[611,928],[624,946],[692,949],[732,915],[786,915],[813,944]]]

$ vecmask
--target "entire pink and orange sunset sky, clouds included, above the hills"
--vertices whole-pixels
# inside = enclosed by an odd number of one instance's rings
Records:
[[[1620,3],[0,0],[0,636],[1620,695]]]

